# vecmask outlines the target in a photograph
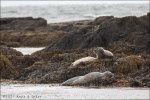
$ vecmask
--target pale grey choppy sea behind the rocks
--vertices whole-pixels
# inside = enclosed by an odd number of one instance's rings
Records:
[[[64,5],[22,5],[1,7],[1,17],[42,17],[48,23],[91,20],[98,16],[142,16],[149,11],[148,3],[98,3]]]

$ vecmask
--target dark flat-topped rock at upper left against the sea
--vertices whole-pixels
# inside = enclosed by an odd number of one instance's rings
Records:
[[[1,18],[1,30],[12,30],[18,31],[27,30],[33,31],[37,27],[47,26],[47,21],[43,18],[32,18],[32,17],[22,17],[22,18]]]

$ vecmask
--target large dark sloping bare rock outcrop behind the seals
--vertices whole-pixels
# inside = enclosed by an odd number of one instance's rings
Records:
[[[146,47],[149,40],[147,30],[148,16],[128,16],[114,18],[112,16],[99,17],[89,26],[85,26],[71,34],[65,35],[58,41],[51,43],[44,51],[51,52],[54,49],[83,49],[91,47],[107,47],[112,42],[122,41],[136,45],[136,48]],[[146,27],[145,27],[146,26]],[[144,41],[143,41],[144,40]],[[144,50],[137,50],[138,53]]]

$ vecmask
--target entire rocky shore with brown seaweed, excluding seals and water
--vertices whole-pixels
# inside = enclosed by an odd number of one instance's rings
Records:
[[[149,21],[150,13],[52,24],[43,18],[1,18],[1,81],[62,83],[90,72],[111,71],[115,80],[96,85],[150,87]],[[31,55],[12,48],[22,46],[45,48]],[[95,47],[111,51],[114,58],[71,66],[82,57],[94,57]]]

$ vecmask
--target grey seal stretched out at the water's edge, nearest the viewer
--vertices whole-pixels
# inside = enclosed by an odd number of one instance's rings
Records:
[[[87,83],[96,82],[99,80],[114,78],[114,74],[110,71],[106,71],[103,73],[100,72],[91,72],[84,76],[76,76],[67,81],[63,82],[61,85],[63,86],[73,86],[73,85],[85,85]]]

